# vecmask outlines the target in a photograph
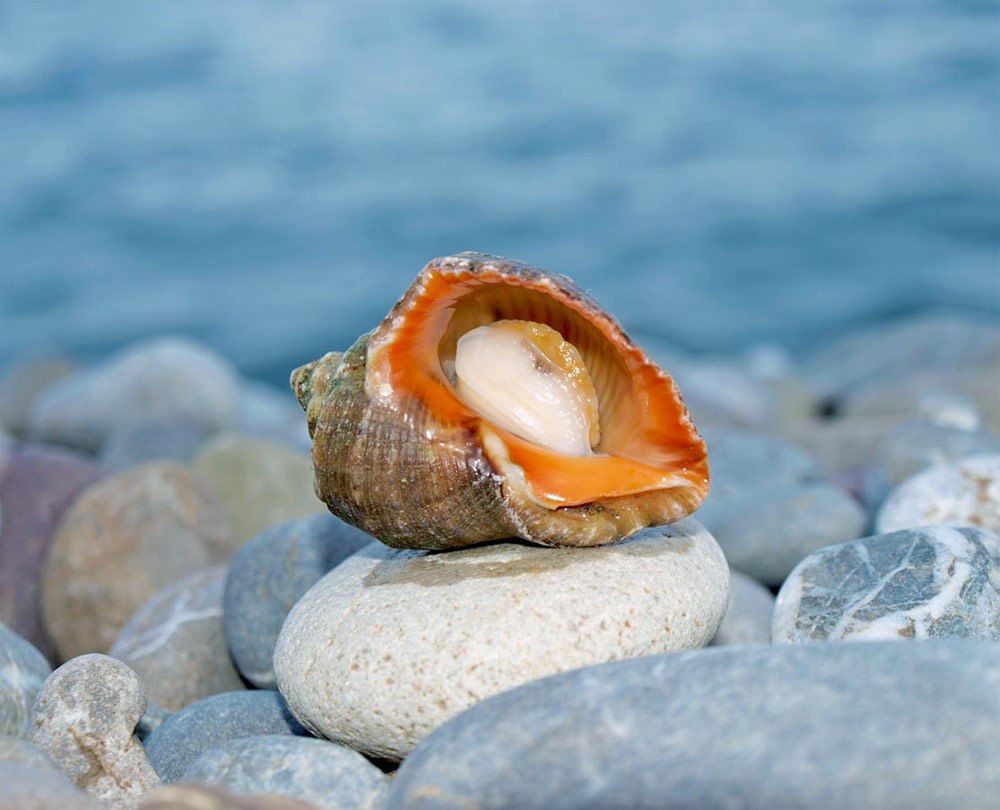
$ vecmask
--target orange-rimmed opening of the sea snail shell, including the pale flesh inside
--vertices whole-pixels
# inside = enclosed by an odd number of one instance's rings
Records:
[[[551,332],[559,338],[556,342],[551,336],[539,337],[535,348],[549,341],[556,355],[562,343],[576,352],[584,374],[577,378],[580,386],[562,392],[559,407],[570,403],[581,412],[589,410],[589,396],[582,393],[585,376],[596,400],[596,414],[586,426],[565,412],[545,420],[537,432],[523,420],[511,423],[506,418],[525,393],[514,385],[524,382],[518,379],[524,352],[519,358],[509,341],[500,340],[505,347],[501,349],[492,338],[477,346],[482,333],[476,330],[510,321],[528,322],[529,327],[522,328],[529,329],[541,325],[544,335]],[[458,349],[466,336],[473,341],[469,365],[476,370],[471,373]],[[506,368],[499,384],[492,376],[490,355],[495,352],[513,353],[509,361],[496,363]],[[556,362],[552,354],[547,356]],[[420,294],[408,302],[405,313],[396,313],[391,339],[370,347],[369,364],[373,382],[391,380],[393,390],[418,397],[437,420],[466,425],[478,433],[490,461],[508,473],[508,482],[523,480],[526,494],[548,508],[674,487],[694,488],[701,497],[707,492],[704,443],[688,420],[673,381],[613,318],[551,277],[512,279],[489,269],[428,272]],[[566,374],[573,376],[572,371]],[[544,396],[537,390],[530,393],[536,382],[527,379],[532,381],[522,388],[529,390],[528,398],[535,401],[531,411],[537,414],[550,406],[542,406]],[[553,439],[563,436],[567,424],[577,424],[577,434],[565,442]],[[518,468],[517,475],[509,474],[512,465]]]

